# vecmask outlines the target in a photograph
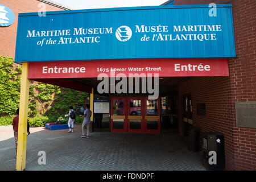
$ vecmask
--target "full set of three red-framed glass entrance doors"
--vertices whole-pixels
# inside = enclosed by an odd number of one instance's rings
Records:
[[[160,133],[160,100],[147,97],[112,97],[112,132]]]

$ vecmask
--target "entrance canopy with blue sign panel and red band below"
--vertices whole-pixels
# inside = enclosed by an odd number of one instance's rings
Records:
[[[236,56],[232,5],[217,5],[216,16],[210,10],[175,5],[22,13],[15,62],[29,62],[31,80],[84,92],[97,86],[97,77],[229,76],[228,57]]]

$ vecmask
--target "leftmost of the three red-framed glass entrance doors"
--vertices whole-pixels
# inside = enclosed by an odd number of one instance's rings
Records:
[[[124,97],[111,98],[111,116],[110,125],[112,132],[126,132],[127,131],[127,100]]]

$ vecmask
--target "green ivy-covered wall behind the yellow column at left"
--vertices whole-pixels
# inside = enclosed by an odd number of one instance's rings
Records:
[[[0,56],[0,116],[13,115],[19,107],[21,71],[12,57]],[[89,103],[88,96],[85,92],[31,81],[28,117],[67,114],[69,106]]]

